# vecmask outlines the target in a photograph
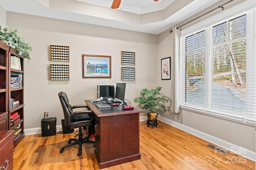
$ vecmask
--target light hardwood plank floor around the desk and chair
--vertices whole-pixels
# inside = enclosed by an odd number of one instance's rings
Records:
[[[76,155],[78,146],[60,153],[71,137],[72,134],[62,132],[50,137],[26,135],[14,149],[14,170],[98,170],[93,144],[83,144],[81,156]],[[159,121],[158,127],[152,129],[146,126],[146,121],[141,121],[141,159],[103,170],[255,169],[255,162],[232,152],[222,154],[208,144],[166,123]]]

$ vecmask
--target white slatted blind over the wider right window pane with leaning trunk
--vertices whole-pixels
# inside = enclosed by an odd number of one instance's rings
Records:
[[[211,29],[212,108],[246,113],[246,15]]]

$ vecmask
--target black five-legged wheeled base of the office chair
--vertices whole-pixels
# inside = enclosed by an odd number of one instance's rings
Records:
[[[93,144],[95,144],[94,141],[89,141],[89,139],[90,139],[90,136],[83,138],[82,128],[80,127],[79,128],[78,139],[73,139],[73,138],[69,139],[68,140],[69,144],[64,146],[64,147],[62,147],[60,149],[60,153],[62,153],[64,151],[64,149],[67,148],[67,147],[70,147],[70,146],[73,146],[73,145],[79,145],[79,150],[78,150],[77,156],[81,156],[82,155],[82,144],[83,143],[93,143]],[[74,142],[71,143],[71,141],[74,141]]]

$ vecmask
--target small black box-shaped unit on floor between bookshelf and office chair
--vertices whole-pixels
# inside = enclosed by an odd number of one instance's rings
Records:
[[[46,117],[41,120],[42,137],[56,135],[56,117]]]

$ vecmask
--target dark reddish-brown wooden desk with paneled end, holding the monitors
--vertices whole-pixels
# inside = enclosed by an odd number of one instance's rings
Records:
[[[139,113],[119,106],[101,108],[86,100],[95,116],[95,154],[100,169],[140,159]]]

